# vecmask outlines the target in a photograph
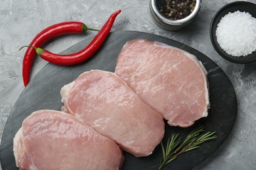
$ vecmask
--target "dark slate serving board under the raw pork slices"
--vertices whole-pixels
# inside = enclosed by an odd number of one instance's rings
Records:
[[[47,64],[25,88],[20,95],[12,112],[7,120],[3,131],[3,138],[0,147],[0,159],[3,169],[18,169],[15,166],[15,160],[12,152],[12,139],[22,125],[22,121],[33,111],[39,109],[60,110],[60,88],[69,82],[72,82],[78,75],[91,69],[102,69],[114,72],[117,56],[123,45],[131,39],[148,39],[150,41],[160,41],[171,46],[176,46],[191,54],[194,54],[202,61],[208,72],[210,86],[209,116],[198,120],[193,126],[188,128],[165,127],[165,144],[171,133],[180,133],[185,137],[198,124],[205,126],[205,131],[217,131],[218,138],[207,143],[196,150],[186,152],[172,161],[164,169],[192,169],[202,163],[203,160],[211,156],[219,146],[225,141],[230,133],[234,122],[236,121],[237,102],[234,88],[223,71],[207,56],[197,50],[186,46],[177,41],[136,31],[118,31],[110,33],[103,46],[93,56],[93,58],[79,65],[64,67],[53,64]],[[93,39],[85,39],[71,48],[68,48],[64,54],[77,52],[84,48]],[[125,154],[125,162],[122,169],[158,169],[161,160],[160,145],[156,147],[153,154],[144,158],[135,158],[131,154]]]

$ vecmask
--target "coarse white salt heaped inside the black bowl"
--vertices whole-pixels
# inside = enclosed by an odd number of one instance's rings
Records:
[[[247,56],[256,50],[256,18],[248,12],[229,12],[217,25],[217,42],[231,56]]]

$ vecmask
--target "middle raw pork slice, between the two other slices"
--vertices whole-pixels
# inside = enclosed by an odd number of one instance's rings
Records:
[[[114,73],[85,72],[60,93],[62,110],[135,156],[148,156],[163,138],[161,114],[143,103]]]

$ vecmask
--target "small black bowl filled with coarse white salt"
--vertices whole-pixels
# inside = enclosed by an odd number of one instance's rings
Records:
[[[210,27],[213,47],[233,63],[256,61],[256,5],[236,1],[222,7]]]

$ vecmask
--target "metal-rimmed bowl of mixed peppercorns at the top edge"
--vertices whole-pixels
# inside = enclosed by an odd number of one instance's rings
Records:
[[[150,0],[150,12],[162,29],[177,31],[192,23],[201,4],[202,0]]]

